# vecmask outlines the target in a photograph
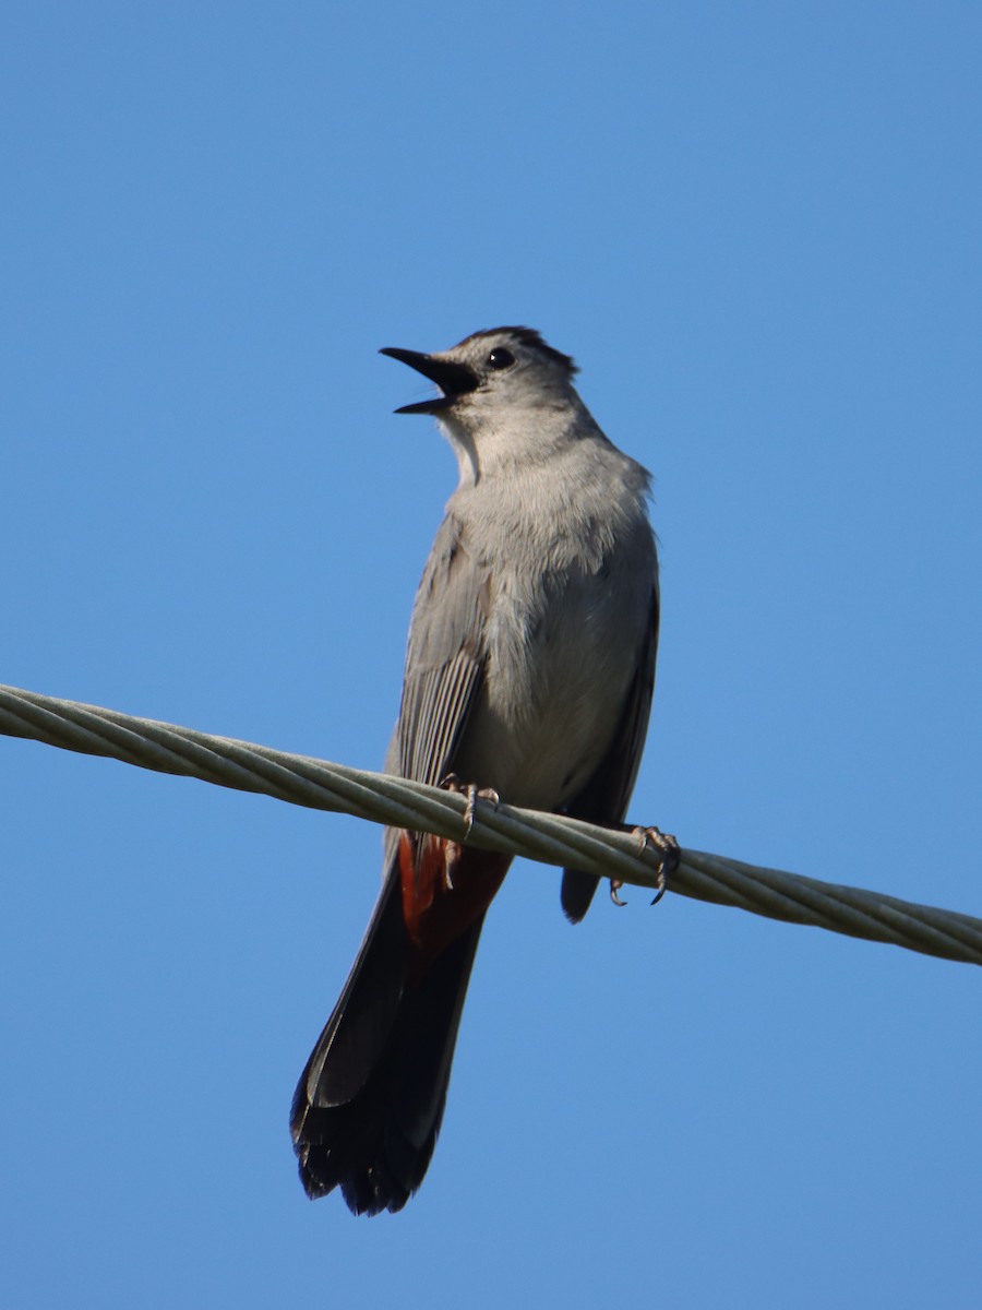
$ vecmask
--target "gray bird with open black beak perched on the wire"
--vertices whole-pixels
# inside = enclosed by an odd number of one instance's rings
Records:
[[[648,473],[597,427],[572,359],[529,328],[382,354],[440,388],[397,413],[435,415],[460,465],[416,593],[386,770],[619,825],[655,685]],[[340,1187],[354,1213],[377,1214],[422,1183],[478,937],[509,863],[386,832],[381,896],[293,1098],[309,1196]],[[597,882],[564,870],[572,922]]]

